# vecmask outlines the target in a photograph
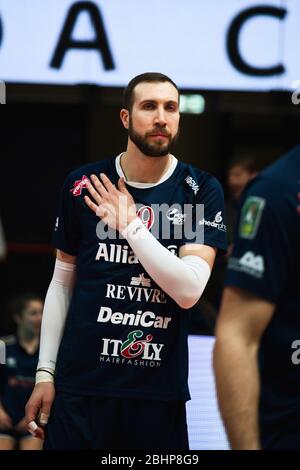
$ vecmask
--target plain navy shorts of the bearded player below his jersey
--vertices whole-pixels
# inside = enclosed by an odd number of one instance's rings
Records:
[[[57,392],[45,450],[188,450],[185,402]]]

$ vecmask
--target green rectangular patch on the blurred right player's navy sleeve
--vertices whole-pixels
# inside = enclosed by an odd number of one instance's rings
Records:
[[[239,225],[241,238],[252,240],[256,237],[265,205],[266,200],[261,197],[250,196],[246,199],[242,207]]]

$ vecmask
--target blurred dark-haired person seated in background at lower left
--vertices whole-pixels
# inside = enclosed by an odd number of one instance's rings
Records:
[[[0,365],[0,450],[40,450],[42,441],[26,430],[25,405],[34,387],[43,301],[25,293],[11,305],[15,335],[2,338],[6,364]]]

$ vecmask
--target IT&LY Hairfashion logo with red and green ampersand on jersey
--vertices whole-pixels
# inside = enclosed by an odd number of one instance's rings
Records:
[[[142,330],[134,330],[128,333],[125,341],[102,338],[100,362],[142,367],[160,366],[164,344],[152,343],[153,336],[151,334],[147,334],[145,339],[142,339],[143,336]]]

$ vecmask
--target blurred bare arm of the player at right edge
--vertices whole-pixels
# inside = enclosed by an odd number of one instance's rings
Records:
[[[214,369],[219,407],[233,449],[259,449],[257,352],[274,304],[226,287],[216,327]]]

